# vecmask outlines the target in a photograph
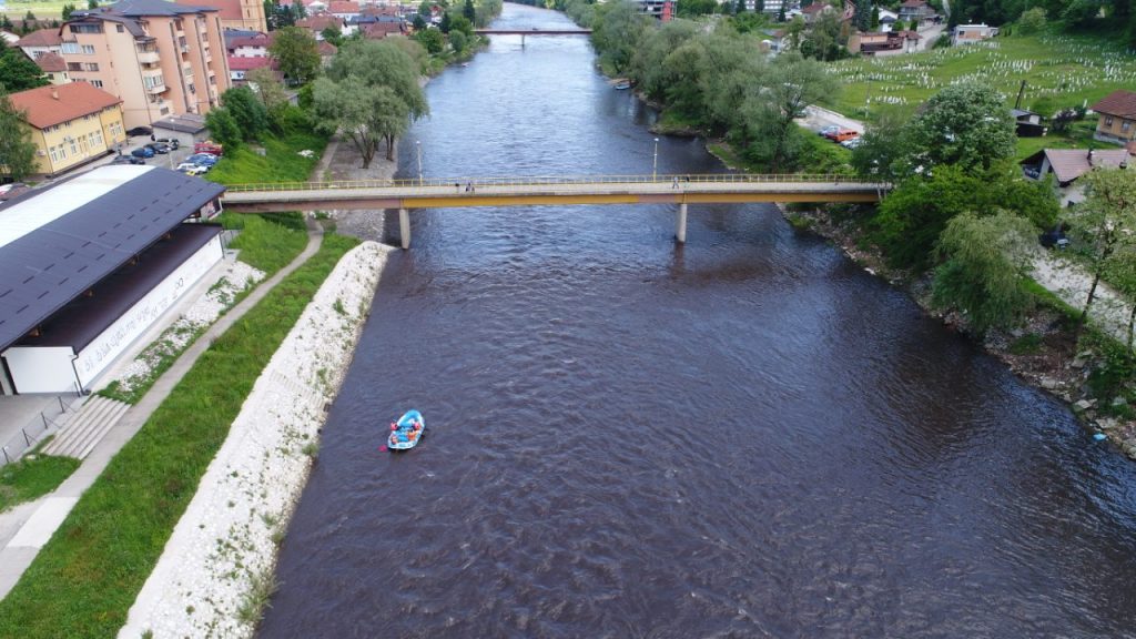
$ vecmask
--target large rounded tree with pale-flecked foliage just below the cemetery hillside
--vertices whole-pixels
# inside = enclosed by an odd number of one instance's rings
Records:
[[[1017,152],[1013,116],[994,89],[955,84],[929,100],[908,127],[911,166],[951,164],[964,171],[989,171]]]

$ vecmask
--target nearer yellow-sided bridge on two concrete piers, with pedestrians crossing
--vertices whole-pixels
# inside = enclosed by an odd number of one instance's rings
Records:
[[[449,177],[387,181],[235,184],[226,210],[399,209],[402,248],[410,248],[410,209],[562,205],[678,205],[675,238],[686,241],[690,204],[877,202],[891,184],[845,175],[611,175],[584,177]]]

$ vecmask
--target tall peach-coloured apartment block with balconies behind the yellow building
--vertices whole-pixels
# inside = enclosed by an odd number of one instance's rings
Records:
[[[72,80],[122,99],[127,128],[169,115],[204,115],[232,86],[211,7],[122,0],[75,11],[60,34]]]

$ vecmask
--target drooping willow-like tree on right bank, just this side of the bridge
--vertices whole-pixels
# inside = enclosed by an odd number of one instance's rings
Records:
[[[1022,287],[1031,268],[1033,234],[1029,222],[1004,210],[951,219],[938,240],[945,262],[935,271],[933,302],[962,310],[978,334],[1017,325],[1033,306]]]

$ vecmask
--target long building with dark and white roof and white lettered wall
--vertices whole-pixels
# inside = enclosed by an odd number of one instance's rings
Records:
[[[107,166],[0,206],[0,395],[86,392],[223,256],[224,186]]]

